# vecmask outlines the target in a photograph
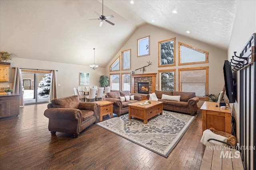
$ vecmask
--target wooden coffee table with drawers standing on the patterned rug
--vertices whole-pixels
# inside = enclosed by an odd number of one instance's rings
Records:
[[[135,102],[128,104],[129,107],[129,119],[136,117],[142,119],[144,124],[148,123],[148,119],[154,117],[155,115],[163,114],[163,102],[150,101],[151,104],[139,105],[139,103],[144,103],[149,100],[142,100],[140,102]]]

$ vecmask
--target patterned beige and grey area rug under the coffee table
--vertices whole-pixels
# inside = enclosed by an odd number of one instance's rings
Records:
[[[163,111],[163,115],[156,115],[144,124],[134,117],[128,119],[126,114],[97,125],[167,158],[195,117]]]

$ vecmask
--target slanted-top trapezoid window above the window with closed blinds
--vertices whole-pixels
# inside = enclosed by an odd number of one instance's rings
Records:
[[[179,42],[179,65],[208,63],[208,52]]]

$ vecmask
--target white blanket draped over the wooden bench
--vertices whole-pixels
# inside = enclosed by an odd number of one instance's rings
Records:
[[[217,135],[215,133],[213,133],[212,131],[210,131],[209,129],[206,129],[204,132],[203,132],[203,136],[202,136],[202,139],[201,139],[201,143],[206,145],[207,143],[207,140],[210,139],[210,138],[213,138],[213,139],[218,139],[220,141],[224,141],[224,142],[227,142],[227,139],[226,137],[224,136],[221,136],[221,135]],[[223,145],[223,146],[226,146],[226,144],[224,143],[220,143],[218,141],[214,141],[214,140],[211,140],[209,141],[211,143],[215,143],[217,145]]]

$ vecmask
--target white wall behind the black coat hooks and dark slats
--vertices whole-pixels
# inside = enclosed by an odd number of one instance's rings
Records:
[[[253,33],[256,33],[256,1],[255,0],[240,0],[238,1],[238,8],[236,11],[236,16],[235,16],[235,20],[234,20],[234,26],[233,26],[233,30],[232,30],[232,35],[231,35],[231,40],[230,40],[230,45],[228,48],[228,60],[230,61],[230,59],[232,59],[232,55],[234,55],[234,51],[236,51],[238,54],[240,53],[240,51],[242,50],[242,48],[244,47],[244,45],[246,45],[246,42],[249,40],[250,36]],[[252,64],[252,70],[254,70],[255,67],[255,62],[254,64]],[[253,74],[254,73],[254,74]],[[234,72],[233,73],[233,77],[236,78],[236,82],[237,82],[237,95],[236,95],[236,103],[232,104],[232,110],[234,112],[234,117],[236,119],[236,138],[237,141],[239,141],[239,87],[240,87],[240,77],[239,77],[239,72]],[[255,77],[255,72],[252,71],[252,80]],[[247,88],[248,87],[244,87]],[[254,87],[252,87],[252,89],[254,88],[255,91],[255,84]],[[255,106],[252,106],[255,107]],[[244,108],[248,108],[248,104],[247,106],[244,106]],[[251,116],[255,116],[253,114],[253,110],[251,111]],[[253,119],[251,117],[251,119]],[[246,124],[248,127],[248,123]],[[252,129],[255,128],[255,125],[252,125],[251,127]],[[252,131],[251,131],[252,132]],[[252,138],[255,139],[255,137],[253,137],[253,134],[251,134]],[[248,141],[248,139],[247,139]],[[246,145],[246,144],[245,144]],[[248,147],[248,146],[247,146]],[[254,150],[255,152],[255,150]],[[247,156],[248,158],[248,156]],[[253,162],[253,157],[251,156],[251,160],[247,160],[247,168],[248,168],[248,164],[249,162]],[[255,160],[255,158],[254,158]],[[251,167],[251,169],[255,169],[255,167]]]

